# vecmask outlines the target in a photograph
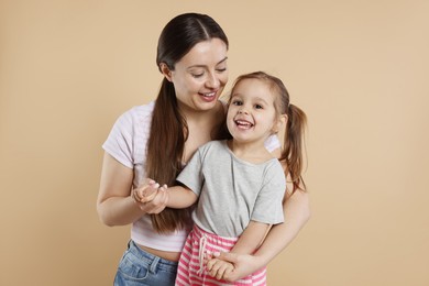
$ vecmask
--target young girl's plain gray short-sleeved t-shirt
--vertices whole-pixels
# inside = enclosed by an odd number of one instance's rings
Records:
[[[252,164],[238,158],[227,141],[211,141],[198,148],[177,180],[199,196],[193,219],[205,231],[237,238],[251,220],[284,221],[286,179],[277,158]]]

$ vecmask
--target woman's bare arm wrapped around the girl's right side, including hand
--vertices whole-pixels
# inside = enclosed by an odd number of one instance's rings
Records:
[[[221,253],[218,257],[234,264],[234,270],[223,276],[227,280],[240,279],[266,266],[299,233],[310,218],[309,196],[296,190],[283,204],[285,222],[274,226],[254,255]],[[209,262],[210,263],[210,262]]]

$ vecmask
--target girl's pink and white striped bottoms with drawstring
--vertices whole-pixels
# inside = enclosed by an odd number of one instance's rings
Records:
[[[222,238],[206,232],[194,224],[180,255],[176,285],[266,285],[266,267],[233,283],[218,280],[206,271],[206,265],[204,265],[205,254],[229,252],[238,240],[238,238]]]

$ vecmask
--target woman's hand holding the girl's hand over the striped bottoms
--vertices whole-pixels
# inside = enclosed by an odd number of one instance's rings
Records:
[[[231,263],[234,266],[233,270],[226,271],[222,276],[222,279],[228,282],[241,279],[264,266],[261,260],[250,254],[221,252],[215,253],[213,255],[215,257],[207,262],[207,271],[209,273],[213,271],[213,267],[219,263],[219,260]]]

